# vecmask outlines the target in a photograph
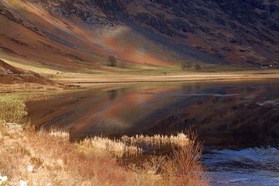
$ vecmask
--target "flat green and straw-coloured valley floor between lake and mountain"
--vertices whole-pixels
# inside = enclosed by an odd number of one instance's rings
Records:
[[[8,58],[8,60],[6,59]],[[255,67],[240,66],[218,66],[203,65],[201,70],[193,68],[181,69],[179,66],[169,67],[151,67],[151,66],[128,66],[107,67],[100,66],[100,69],[70,69],[59,71],[49,69],[42,65],[33,64],[29,61],[21,61],[17,58],[5,56],[0,58],[3,62],[23,71],[33,71],[40,76],[38,81],[30,82],[30,78],[25,77],[25,81],[13,81],[18,79],[15,75],[0,74],[0,92],[45,92],[48,90],[68,90],[80,87],[91,86],[99,83],[144,83],[144,82],[175,82],[175,81],[223,81],[234,80],[241,81],[247,79],[272,79],[279,78],[279,69],[256,69]],[[15,62],[17,61],[17,62]],[[4,78],[3,78],[4,77]],[[6,78],[5,78],[6,77]],[[41,79],[50,81],[44,85],[40,83]],[[5,81],[6,80],[6,81]],[[72,85],[79,86],[72,86]]]

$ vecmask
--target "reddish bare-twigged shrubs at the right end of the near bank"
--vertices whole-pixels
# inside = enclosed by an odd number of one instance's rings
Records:
[[[170,155],[153,155],[140,166],[133,164],[138,185],[209,185],[200,163],[202,144],[197,142],[195,133],[188,136],[188,144],[176,146]]]

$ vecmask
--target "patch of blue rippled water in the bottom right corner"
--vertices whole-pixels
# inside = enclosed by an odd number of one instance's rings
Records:
[[[279,185],[279,150],[205,149],[203,155],[212,185]]]

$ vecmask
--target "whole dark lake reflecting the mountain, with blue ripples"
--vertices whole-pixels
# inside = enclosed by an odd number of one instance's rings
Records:
[[[197,130],[212,185],[279,185],[279,81],[108,84],[27,104],[31,122],[90,135]]]

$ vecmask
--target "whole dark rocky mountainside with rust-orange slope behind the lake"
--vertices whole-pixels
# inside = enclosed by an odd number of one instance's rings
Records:
[[[1,57],[2,56],[2,57]],[[279,63],[277,0],[0,0],[0,57],[65,71]]]

